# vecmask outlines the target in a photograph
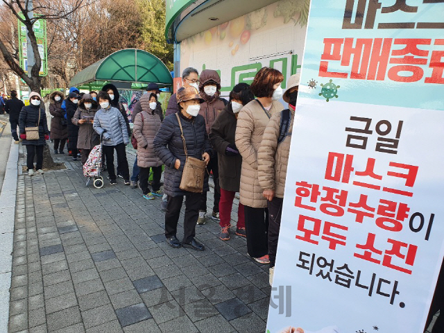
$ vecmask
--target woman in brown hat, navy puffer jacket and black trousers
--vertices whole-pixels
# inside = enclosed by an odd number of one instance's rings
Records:
[[[180,112],[171,114],[157,131],[154,138],[154,149],[165,164],[164,193],[168,195],[167,212],[165,214],[165,237],[173,248],[181,245],[203,251],[204,246],[196,239],[196,222],[198,219],[200,193],[191,193],[180,189],[183,167],[185,165],[185,150],[180,133],[179,121],[182,124],[183,134],[187,145],[188,156],[210,162],[211,146],[205,129],[205,119],[199,115],[200,99],[195,87],[182,87],[177,92],[177,101]],[[208,178],[205,177],[203,191],[208,191]],[[177,225],[182,207],[185,202],[184,237],[182,244],[176,237]]]

